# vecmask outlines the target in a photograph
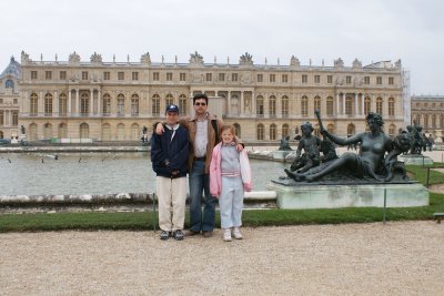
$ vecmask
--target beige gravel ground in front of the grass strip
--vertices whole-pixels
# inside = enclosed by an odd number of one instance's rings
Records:
[[[443,295],[444,224],[0,234],[2,295]]]

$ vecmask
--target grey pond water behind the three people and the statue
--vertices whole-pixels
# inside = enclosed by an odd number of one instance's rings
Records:
[[[137,153],[0,154],[0,195],[151,193],[155,174],[150,154]],[[285,175],[290,164],[251,160],[253,191]]]

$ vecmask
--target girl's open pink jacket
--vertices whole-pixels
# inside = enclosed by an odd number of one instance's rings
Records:
[[[213,196],[221,196],[222,192],[221,146],[222,142],[214,146],[210,164],[210,193]],[[249,154],[245,150],[239,153],[243,188],[245,191],[251,191],[252,183]]]

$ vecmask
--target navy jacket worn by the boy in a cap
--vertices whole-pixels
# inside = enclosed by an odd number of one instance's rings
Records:
[[[153,133],[151,137],[151,162],[158,176],[181,177],[188,173],[189,132],[182,125],[175,130],[164,126],[161,135]],[[179,171],[172,175],[171,172]]]

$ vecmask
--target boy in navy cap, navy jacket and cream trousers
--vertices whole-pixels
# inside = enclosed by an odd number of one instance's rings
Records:
[[[160,239],[183,239],[186,202],[189,133],[178,123],[179,108],[170,104],[162,135],[151,137],[151,162],[157,173]],[[172,208],[172,216],[171,216]]]

